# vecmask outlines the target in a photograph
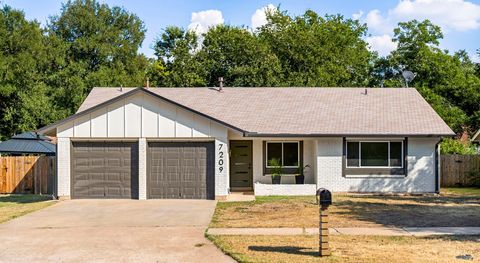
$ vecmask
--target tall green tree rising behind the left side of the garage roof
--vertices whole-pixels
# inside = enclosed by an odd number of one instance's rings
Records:
[[[94,86],[140,86],[148,61],[138,54],[143,22],[120,7],[68,1],[48,25],[50,51],[61,56],[49,85],[59,107],[74,112]]]

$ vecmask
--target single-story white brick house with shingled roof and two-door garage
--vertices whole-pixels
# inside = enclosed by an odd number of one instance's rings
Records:
[[[454,135],[414,88],[94,88],[38,132],[58,137],[60,197],[134,199],[433,193]]]

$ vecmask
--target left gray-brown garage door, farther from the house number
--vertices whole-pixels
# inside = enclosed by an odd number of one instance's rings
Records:
[[[138,143],[73,142],[72,198],[138,198]]]

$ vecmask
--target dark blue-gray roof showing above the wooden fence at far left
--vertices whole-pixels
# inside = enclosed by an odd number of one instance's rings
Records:
[[[49,141],[50,139],[43,135],[24,132],[0,142],[0,153],[55,155],[55,144]]]

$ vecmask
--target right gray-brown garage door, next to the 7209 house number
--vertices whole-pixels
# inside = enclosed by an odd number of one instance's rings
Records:
[[[214,199],[214,144],[148,144],[148,198]]]

